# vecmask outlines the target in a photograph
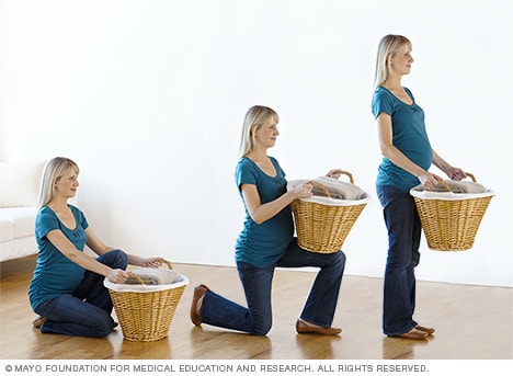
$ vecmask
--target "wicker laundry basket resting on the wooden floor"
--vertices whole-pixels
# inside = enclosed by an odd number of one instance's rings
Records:
[[[166,262],[170,269],[170,262]],[[137,277],[135,274],[133,276]],[[105,280],[125,340],[158,341],[169,328],[189,280],[170,285],[116,285]]]

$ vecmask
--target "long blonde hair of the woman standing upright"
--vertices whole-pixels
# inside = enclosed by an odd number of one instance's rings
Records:
[[[376,70],[374,76],[374,88],[379,88],[390,75],[390,59],[408,47],[412,48],[411,42],[402,35],[385,35],[378,45],[376,57]]]

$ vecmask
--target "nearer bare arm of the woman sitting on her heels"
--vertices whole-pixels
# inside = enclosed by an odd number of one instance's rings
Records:
[[[106,276],[112,283],[124,283],[128,278],[128,273],[125,271],[111,269],[79,251],[60,230],[49,231],[46,238],[69,260],[88,271]]]

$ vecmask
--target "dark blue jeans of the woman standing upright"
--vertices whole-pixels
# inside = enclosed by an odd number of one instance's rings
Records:
[[[376,187],[388,229],[383,330],[387,335],[406,333],[417,326],[414,267],[420,261],[421,223],[409,192],[394,186]]]

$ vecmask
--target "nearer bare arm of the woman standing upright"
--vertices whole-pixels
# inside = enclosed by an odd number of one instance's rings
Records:
[[[388,158],[394,164],[417,176],[425,189],[435,187],[441,178],[413,163],[402,151],[394,146],[390,115],[381,112],[376,121],[378,124],[378,140],[381,155]]]

